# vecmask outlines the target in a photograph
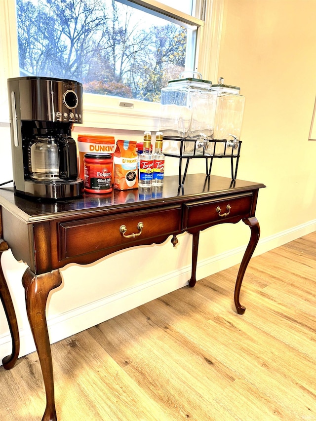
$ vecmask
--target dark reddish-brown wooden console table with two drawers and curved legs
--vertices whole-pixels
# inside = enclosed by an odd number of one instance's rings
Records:
[[[62,278],[59,268],[69,263],[88,264],[115,251],[144,244],[162,243],[172,235],[193,235],[192,276],[196,283],[199,232],[213,225],[237,223],[250,227],[250,241],[235,286],[237,312],[244,272],[260,235],[255,218],[258,191],[263,184],[193,174],[179,187],[178,176],[165,178],[163,189],[153,188],[146,197],[141,190],[88,194],[82,198],[44,203],[0,189],[0,256],[9,247],[17,260],[26,262],[23,274],[27,314],[40,359],[46,391],[42,421],[56,421],[51,350],[46,323],[46,301]],[[14,366],[19,354],[19,334],[12,300],[0,265],[0,298],[12,337],[12,354],[3,358],[4,368]]]

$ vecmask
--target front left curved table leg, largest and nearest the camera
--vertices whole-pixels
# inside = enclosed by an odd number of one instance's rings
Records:
[[[59,270],[35,275],[27,268],[22,277],[26,310],[39,354],[46,392],[46,409],[42,421],[57,421],[54,396],[53,363],[46,321],[46,302],[49,292],[62,282]]]

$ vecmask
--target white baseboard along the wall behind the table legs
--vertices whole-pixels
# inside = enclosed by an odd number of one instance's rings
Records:
[[[279,232],[259,240],[254,256],[265,253],[280,245],[286,244],[316,230],[316,220]],[[245,246],[218,254],[197,263],[197,279],[230,268],[240,263]],[[162,295],[168,294],[188,284],[191,266],[169,272],[141,285],[131,287],[116,294],[80,306],[71,311],[51,317],[47,320],[50,342],[53,344],[91,326],[102,323]],[[20,356],[35,351],[35,344],[30,329],[20,329]],[[4,334],[0,337],[1,359],[12,350],[11,337]]]

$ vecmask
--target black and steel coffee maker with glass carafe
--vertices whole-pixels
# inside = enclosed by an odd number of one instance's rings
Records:
[[[82,123],[82,85],[47,77],[8,79],[16,193],[66,199],[83,193],[73,123]]]

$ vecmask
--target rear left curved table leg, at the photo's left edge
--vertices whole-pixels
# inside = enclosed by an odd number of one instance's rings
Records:
[[[20,351],[20,338],[19,338],[19,329],[16,320],[16,315],[11,299],[11,295],[6,283],[6,280],[3,275],[2,266],[1,266],[1,255],[2,252],[8,250],[9,247],[7,243],[3,240],[0,240],[0,299],[4,308],[4,312],[6,315],[6,319],[9,325],[10,334],[12,338],[12,353],[11,355],[7,355],[2,359],[3,368],[5,370],[10,370],[18,356]]]

